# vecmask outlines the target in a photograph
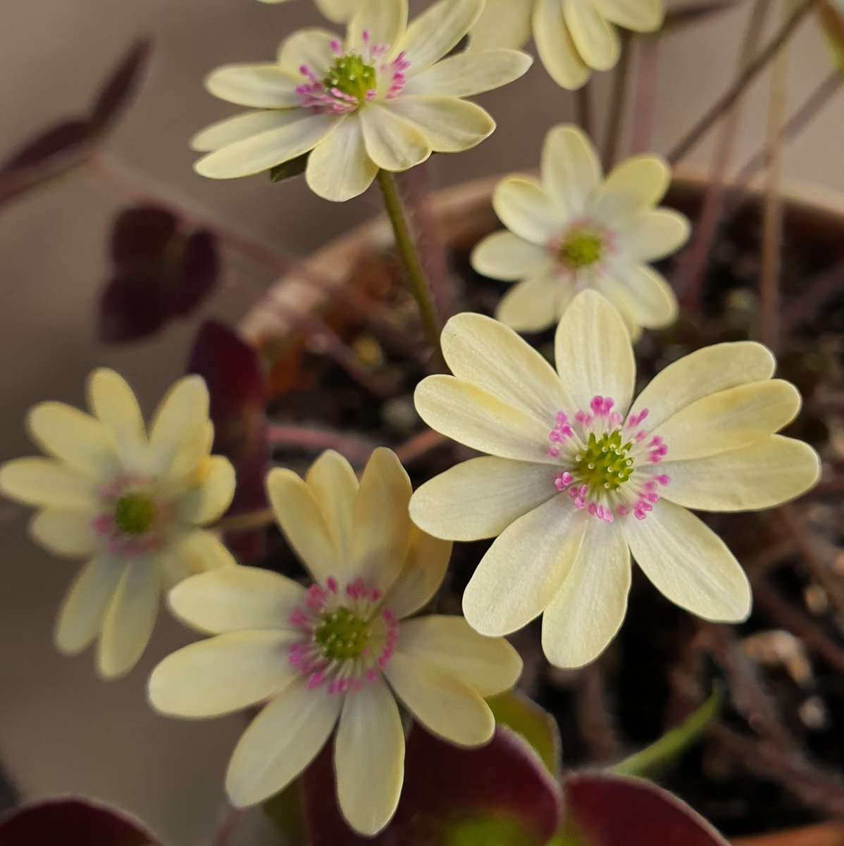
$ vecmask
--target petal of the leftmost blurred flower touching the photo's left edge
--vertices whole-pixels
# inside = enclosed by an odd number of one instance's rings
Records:
[[[0,466],[0,491],[19,503],[96,514],[96,482],[52,459],[13,459]]]

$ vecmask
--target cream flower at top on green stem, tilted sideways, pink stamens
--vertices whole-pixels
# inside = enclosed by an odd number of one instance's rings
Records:
[[[484,0],[441,0],[409,26],[407,0],[363,0],[345,39],[301,30],[276,63],[214,71],[211,94],[254,111],[193,140],[209,155],[196,170],[230,179],[310,152],[306,179],[326,200],[362,194],[379,168],[403,171],[432,151],[459,152],[495,129],[463,97],[518,79],[530,58],[514,50],[443,59],[480,15]]]

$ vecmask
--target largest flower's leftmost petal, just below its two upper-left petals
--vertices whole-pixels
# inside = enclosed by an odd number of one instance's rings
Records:
[[[556,496],[553,467],[484,456],[425,482],[410,500],[416,525],[453,541],[495,537]]]

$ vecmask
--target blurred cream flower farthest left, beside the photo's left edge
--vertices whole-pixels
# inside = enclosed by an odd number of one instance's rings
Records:
[[[233,563],[200,526],[228,508],[234,470],[209,454],[214,432],[199,376],[170,389],[149,436],[114,371],[90,375],[88,401],[90,415],[62,403],[31,409],[31,437],[49,457],[3,464],[0,491],[38,508],[30,534],[42,547],[88,558],[64,598],[55,641],[75,655],[99,638],[98,672],[116,678],[145,650],[162,590]]]

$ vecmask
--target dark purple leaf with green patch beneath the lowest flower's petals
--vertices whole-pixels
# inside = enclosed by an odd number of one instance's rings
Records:
[[[555,780],[517,734],[497,728],[480,749],[458,749],[414,724],[396,816],[376,838],[352,832],[337,807],[332,744],[304,773],[303,807],[311,846],[436,846],[466,824],[501,824],[517,843],[544,846],[556,832]],[[691,844],[690,844],[691,846]]]

